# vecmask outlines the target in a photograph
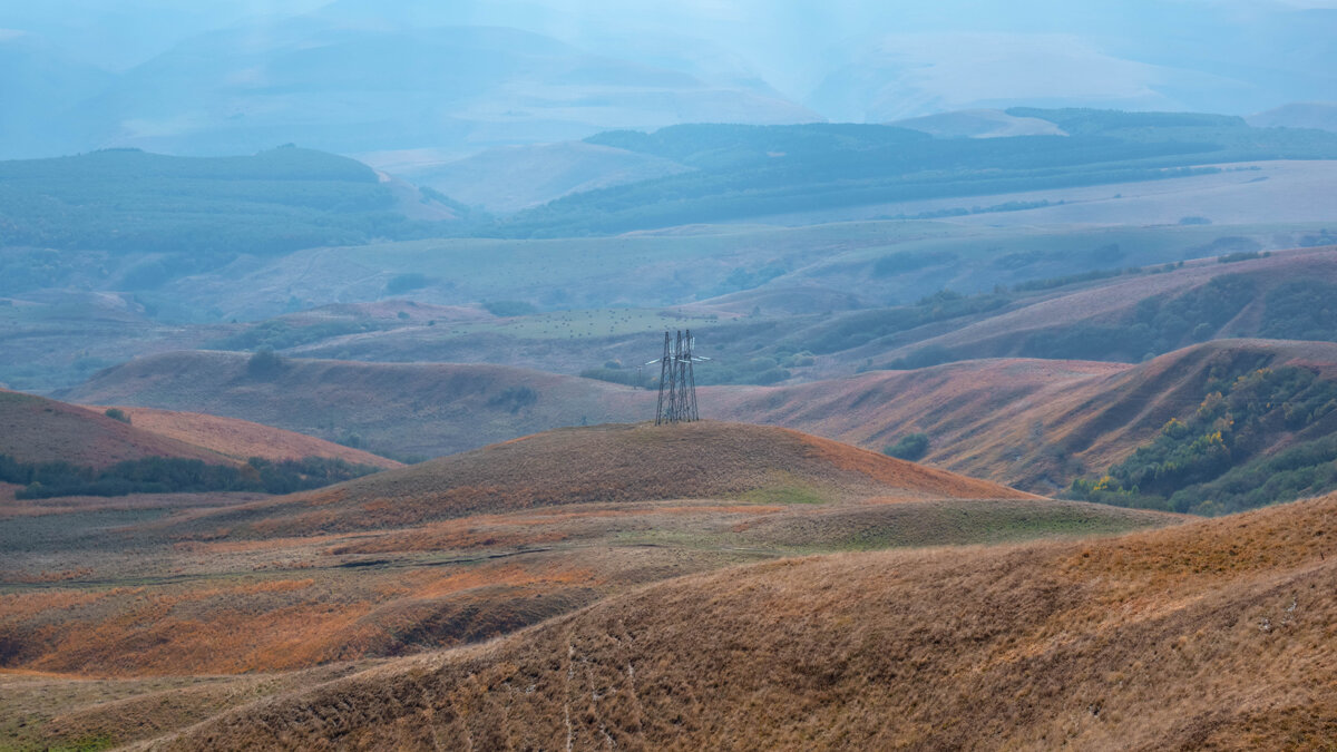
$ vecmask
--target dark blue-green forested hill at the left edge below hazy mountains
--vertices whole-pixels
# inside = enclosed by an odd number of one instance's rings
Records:
[[[0,245],[160,254],[150,261],[199,272],[242,253],[422,237],[406,214],[432,217],[424,205],[436,205],[436,219],[460,219],[448,199],[406,193],[361,162],[290,145],[249,157],[112,149],[9,161],[0,162]],[[138,273],[122,289],[164,281]]]

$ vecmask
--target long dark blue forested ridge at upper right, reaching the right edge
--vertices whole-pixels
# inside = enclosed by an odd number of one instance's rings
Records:
[[[694,171],[572,194],[516,214],[504,237],[618,234],[686,223],[896,202],[1177,179],[1221,165],[1332,159],[1329,131],[1253,128],[1241,118],[1017,107],[1013,118],[1067,135],[935,138],[897,126],[685,124],[586,139],[670,159]],[[1110,191],[1116,193],[1116,191]]]

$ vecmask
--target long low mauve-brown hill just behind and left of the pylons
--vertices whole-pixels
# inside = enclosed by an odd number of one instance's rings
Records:
[[[63,399],[207,412],[435,458],[582,423],[644,420],[654,395],[630,387],[501,365],[285,359],[267,375],[249,356],[174,352],[96,375]]]

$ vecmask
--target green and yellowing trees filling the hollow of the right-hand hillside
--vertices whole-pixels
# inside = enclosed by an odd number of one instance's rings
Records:
[[[1198,409],[1099,479],[1076,479],[1084,500],[1226,514],[1337,488],[1337,436],[1321,423],[1337,415],[1337,383],[1305,368],[1259,368],[1215,380]],[[1280,434],[1297,442],[1265,455]]]

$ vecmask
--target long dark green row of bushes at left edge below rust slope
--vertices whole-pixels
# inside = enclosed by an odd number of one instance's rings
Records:
[[[326,458],[279,462],[251,458],[239,467],[198,459],[146,458],[95,470],[67,462],[21,463],[0,455],[0,480],[23,486],[15,494],[20,499],[210,491],[291,494],[378,471],[369,464]]]

